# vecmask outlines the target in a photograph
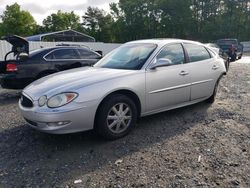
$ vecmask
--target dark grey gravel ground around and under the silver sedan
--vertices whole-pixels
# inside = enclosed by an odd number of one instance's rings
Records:
[[[250,62],[250,58],[245,59]],[[127,137],[49,135],[0,89],[0,187],[250,187],[250,63],[232,63],[213,105],[140,120]]]

